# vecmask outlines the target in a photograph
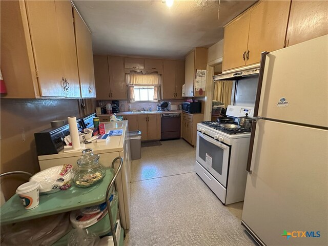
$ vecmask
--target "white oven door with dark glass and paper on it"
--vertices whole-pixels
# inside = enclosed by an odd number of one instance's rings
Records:
[[[197,140],[196,160],[226,187],[230,146],[199,132]]]

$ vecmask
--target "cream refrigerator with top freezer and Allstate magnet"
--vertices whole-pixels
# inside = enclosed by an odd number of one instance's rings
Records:
[[[260,245],[328,245],[327,48],[262,53],[241,222]]]

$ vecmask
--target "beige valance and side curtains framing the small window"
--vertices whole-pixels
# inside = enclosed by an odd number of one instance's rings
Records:
[[[154,100],[160,100],[161,77],[159,74],[127,73],[128,99],[134,101],[134,86],[153,86]]]

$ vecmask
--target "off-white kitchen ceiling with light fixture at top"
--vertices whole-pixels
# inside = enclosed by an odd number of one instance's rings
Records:
[[[223,25],[256,1],[73,1],[94,54],[183,58],[223,38]],[[219,11],[218,11],[219,10]],[[218,19],[219,16],[219,19]]]

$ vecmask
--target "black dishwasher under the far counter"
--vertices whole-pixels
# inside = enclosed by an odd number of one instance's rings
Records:
[[[161,115],[161,140],[180,138],[180,113]]]

